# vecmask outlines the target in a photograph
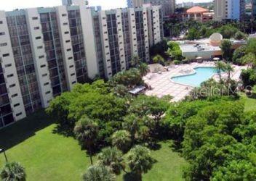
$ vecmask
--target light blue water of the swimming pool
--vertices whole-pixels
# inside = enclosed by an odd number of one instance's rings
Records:
[[[193,87],[200,87],[202,82],[216,74],[214,67],[197,67],[194,70],[196,70],[195,74],[172,77],[172,81]]]

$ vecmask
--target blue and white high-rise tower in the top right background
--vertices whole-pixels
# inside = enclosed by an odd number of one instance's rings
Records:
[[[244,0],[215,0],[215,20],[242,20],[245,14]]]

